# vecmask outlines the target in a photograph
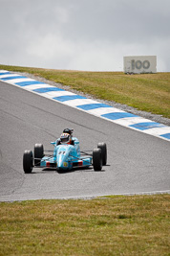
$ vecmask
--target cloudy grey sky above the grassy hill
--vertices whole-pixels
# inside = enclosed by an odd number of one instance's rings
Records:
[[[123,71],[157,56],[170,72],[169,0],[0,0],[0,64]]]

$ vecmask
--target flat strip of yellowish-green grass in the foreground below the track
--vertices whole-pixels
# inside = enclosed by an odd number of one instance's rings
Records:
[[[0,255],[170,255],[170,195],[0,203]]]

